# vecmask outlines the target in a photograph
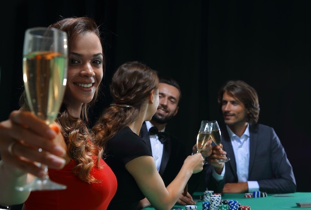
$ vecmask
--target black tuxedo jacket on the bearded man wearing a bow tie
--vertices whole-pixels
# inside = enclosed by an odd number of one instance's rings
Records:
[[[166,141],[163,143],[163,156],[159,174],[161,175],[165,186],[167,186],[178,174],[187,155],[183,142],[170,135],[169,133],[164,132],[163,134],[166,138]],[[150,138],[145,122],[141,128],[140,136],[151,150]]]

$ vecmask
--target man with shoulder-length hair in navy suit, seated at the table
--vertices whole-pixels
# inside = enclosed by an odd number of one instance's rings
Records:
[[[229,81],[218,92],[226,126],[222,146],[213,147],[206,171],[208,190],[217,193],[293,193],[296,180],[284,147],[272,127],[258,124],[257,92],[243,81]],[[217,163],[218,158],[231,160]],[[212,167],[213,166],[213,167]]]

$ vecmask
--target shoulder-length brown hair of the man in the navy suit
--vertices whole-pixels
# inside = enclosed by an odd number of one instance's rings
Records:
[[[249,111],[246,121],[249,123],[257,123],[259,119],[259,100],[256,90],[241,80],[230,80],[218,91],[218,107],[222,113],[223,95],[227,92],[229,96],[243,103]]]

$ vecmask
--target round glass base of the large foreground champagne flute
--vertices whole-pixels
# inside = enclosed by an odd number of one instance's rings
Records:
[[[43,190],[65,190],[66,185],[53,182],[50,179],[36,178],[33,182],[23,186],[15,187],[17,191],[43,191]]]

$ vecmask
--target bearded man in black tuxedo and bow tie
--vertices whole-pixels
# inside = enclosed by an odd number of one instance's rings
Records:
[[[187,157],[185,145],[173,135],[164,132],[167,122],[177,114],[181,99],[179,84],[172,78],[159,78],[159,105],[150,121],[145,121],[140,136],[149,145],[156,163],[156,169],[167,186],[178,174]],[[194,205],[191,195],[184,192],[178,204]],[[140,207],[150,206],[145,198]]]

